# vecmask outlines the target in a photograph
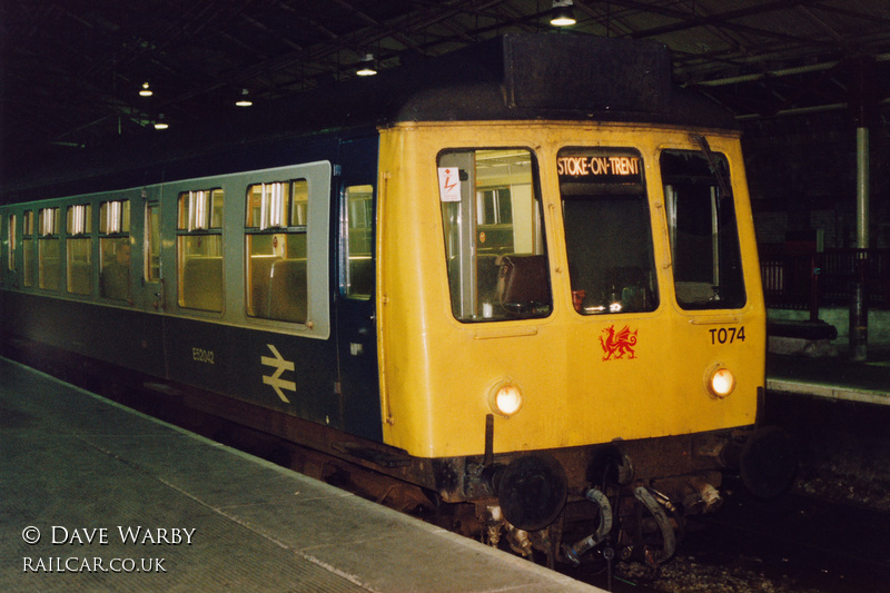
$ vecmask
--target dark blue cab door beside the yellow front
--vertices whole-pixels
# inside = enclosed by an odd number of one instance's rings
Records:
[[[347,432],[382,439],[375,319],[377,138],[340,145],[336,268],[337,383]]]

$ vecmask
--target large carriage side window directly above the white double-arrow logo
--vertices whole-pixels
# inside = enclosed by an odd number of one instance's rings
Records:
[[[245,219],[247,315],[308,319],[308,205],[306,179],[254,184]]]

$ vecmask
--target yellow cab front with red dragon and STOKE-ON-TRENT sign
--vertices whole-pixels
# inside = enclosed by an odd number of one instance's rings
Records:
[[[765,316],[738,136],[562,121],[380,134],[387,444],[479,455],[488,415],[495,454],[754,423]]]

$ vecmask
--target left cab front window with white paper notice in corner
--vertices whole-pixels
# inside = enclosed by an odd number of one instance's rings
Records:
[[[532,152],[446,150],[437,165],[454,316],[461,322],[548,316],[550,265]]]

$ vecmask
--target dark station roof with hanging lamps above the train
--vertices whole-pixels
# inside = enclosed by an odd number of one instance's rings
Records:
[[[564,2],[564,0],[562,0]],[[505,33],[664,43],[675,82],[738,120],[890,101],[879,0],[3,0],[0,150],[29,160],[416,63]],[[139,91],[148,83],[152,95]],[[247,108],[249,109],[249,108]]]

